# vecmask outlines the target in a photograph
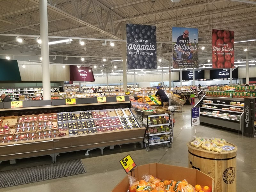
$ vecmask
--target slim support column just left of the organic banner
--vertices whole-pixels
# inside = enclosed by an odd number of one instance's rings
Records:
[[[122,23],[122,39],[126,39],[125,22]],[[124,92],[127,91],[127,72],[126,72],[126,42],[122,42],[122,58],[123,58],[123,81],[124,81]]]

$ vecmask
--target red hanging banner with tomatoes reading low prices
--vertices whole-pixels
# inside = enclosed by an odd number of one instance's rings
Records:
[[[212,68],[235,68],[234,31],[212,29]]]

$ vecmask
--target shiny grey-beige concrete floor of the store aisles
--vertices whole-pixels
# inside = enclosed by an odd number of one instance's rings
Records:
[[[190,111],[191,106],[183,106],[182,113],[174,113],[173,118],[175,118],[176,123],[173,128],[172,148],[156,145],[150,147],[150,151],[146,151],[145,148],[140,148],[140,144],[127,144],[115,146],[114,149],[105,148],[103,156],[101,156],[99,149],[90,151],[89,156],[84,156],[85,151],[60,154],[57,157],[57,161],[82,159],[87,172],[75,176],[3,188],[0,189],[0,192],[108,192],[126,176],[119,160],[128,154],[132,156],[137,165],[163,163],[188,167],[187,142],[193,140],[195,134],[195,127],[192,128],[190,126]],[[196,136],[207,138],[221,137],[235,144],[238,147],[236,157],[236,191],[256,191],[256,138],[248,138],[241,134],[238,135],[237,132],[202,125],[196,126]],[[9,165],[9,162],[3,162],[0,164],[0,171],[47,164],[51,163],[51,161],[52,158],[50,156],[43,156],[20,159],[13,165]]]

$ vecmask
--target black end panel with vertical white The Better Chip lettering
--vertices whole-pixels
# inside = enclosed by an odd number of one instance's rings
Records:
[[[256,97],[244,98],[243,135],[256,137]]]

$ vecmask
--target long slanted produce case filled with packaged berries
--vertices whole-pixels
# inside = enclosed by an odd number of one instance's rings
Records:
[[[140,126],[140,123],[136,121],[138,117],[131,106],[129,96],[125,96],[125,100],[120,102],[117,102],[116,97],[107,97],[106,101],[103,103],[98,103],[97,100],[97,98],[76,99],[76,104],[65,104],[65,100],[23,101],[22,108],[11,108],[11,102],[4,103],[2,109],[0,109],[2,125],[8,123],[10,128],[14,129],[14,131],[10,132],[10,130],[4,128],[3,131],[7,130],[9,133],[3,132],[0,134],[0,163],[6,160],[10,160],[10,162],[13,163],[16,159],[44,155],[52,156],[52,161],[56,162],[56,158],[60,153],[78,150],[87,150],[88,152],[88,150],[100,148],[101,154],[103,154],[103,149],[105,147],[113,147],[115,145],[128,143],[140,143],[142,148],[146,128]],[[127,113],[124,109],[126,109]],[[119,122],[124,121],[125,123],[122,122],[116,126],[111,126],[113,129],[107,129],[111,127],[105,126],[105,122],[102,123],[104,124],[102,126],[96,125],[97,122],[95,120],[100,122],[100,118],[96,116],[91,118],[95,123],[95,127],[88,127],[86,125],[86,130],[83,130],[83,127],[80,127],[81,129],[79,129],[79,126],[82,126],[81,114],[85,116],[85,111],[100,111],[103,113],[112,111],[116,115],[109,115],[111,118],[116,117]],[[124,112],[125,114],[123,113],[122,115],[121,112]],[[57,116],[57,119],[44,119],[43,121],[39,121],[41,115],[44,118],[43,114],[51,114],[52,118],[54,115],[63,113],[66,114],[66,120],[59,119]],[[70,121],[68,120],[68,113],[70,113]],[[72,116],[73,113],[75,116]],[[128,113],[130,113],[130,115],[127,115]],[[37,118],[35,118],[36,116]],[[19,122],[22,121],[22,118],[20,117],[24,117],[24,119],[25,117],[32,117],[31,119],[37,121],[37,124],[35,123],[35,127],[33,124],[29,124],[28,127],[28,124],[26,123],[27,125],[24,125],[24,130],[20,131],[18,129],[23,128],[23,122]],[[75,119],[72,119],[73,117]],[[50,121],[51,124],[49,125]],[[66,127],[62,126],[64,121],[67,121]],[[79,121],[79,123],[77,121]],[[41,130],[43,131],[39,130],[40,126],[38,122],[48,122],[47,124],[42,124]],[[72,127],[68,127],[68,122],[71,123]],[[111,122],[113,123],[112,119]],[[74,126],[76,126],[77,129]],[[33,130],[33,128],[35,130]],[[95,132],[93,129],[95,129]],[[55,131],[57,131],[57,134],[54,133]],[[20,137],[21,134],[22,137]],[[33,137],[31,137],[31,134]],[[25,137],[28,136],[28,138],[24,139],[23,135]]]

